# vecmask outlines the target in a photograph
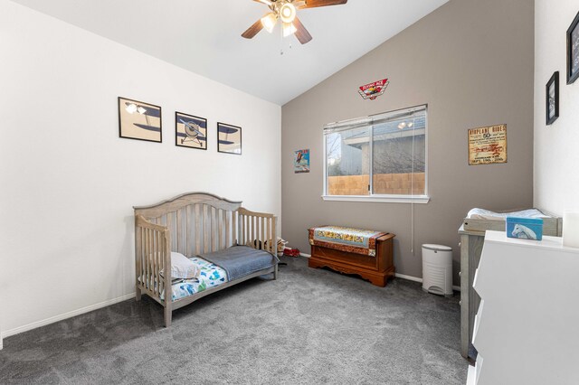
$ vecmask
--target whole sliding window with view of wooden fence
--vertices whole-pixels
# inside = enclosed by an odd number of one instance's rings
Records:
[[[324,127],[325,200],[428,202],[426,106]]]

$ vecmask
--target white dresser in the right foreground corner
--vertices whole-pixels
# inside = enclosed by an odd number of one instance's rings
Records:
[[[579,384],[579,249],[487,231],[468,384]]]

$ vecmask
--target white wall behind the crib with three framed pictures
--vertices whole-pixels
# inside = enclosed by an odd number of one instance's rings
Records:
[[[205,191],[280,215],[280,106],[6,0],[0,52],[5,336],[134,292],[133,205]],[[119,138],[119,96],[163,108],[162,144]],[[208,118],[207,151],[175,146],[176,110]],[[217,121],[243,155],[217,153]]]

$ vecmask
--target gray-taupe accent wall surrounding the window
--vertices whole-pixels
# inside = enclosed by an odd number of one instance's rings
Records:
[[[371,30],[368,33],[372,33]],[[318,65],[323,65],[319,63]],[[298,70],[298,69],[297,69]],[[359,86],[388,78],[384,95]],[[451,246],[459,285],[457,230],[473,207],[533,203],[534,2],[451,0],[282,108],[281,229],[309,253],[307,229],[334,224],[396,235],[396,272],[422,277],[423,243]],[[325,202],[322,127],[329,122],[428,104],[431,202]],[[467,130],[506,123],[508,163],[468,164]],[[293,173],[293,152],[310,149],[311,172]]]

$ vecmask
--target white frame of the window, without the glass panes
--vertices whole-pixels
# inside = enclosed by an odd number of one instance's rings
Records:
[[[392,118],[397,116],[402,116],[407,113],[413,113],[416,111],[424,111],[425,116],[425,123],[424,123],[424,157],[426,162],[424,164],[424,194],[421,195],[401,195],[401,194],[368,194],[368,195],[329,195],[327,194],[327,136],[325,134],[325,130],[328,128],[337,128],[337,127],[348,127],[351,126],[352,128],[356,126],[363,127],[368,125],[370,127],[369,133],[369,142],[372,146],[370,148],[370,192],[374,191],[374,181],[373,181],[373,171],[374,171],[374,125],[372,122],[376,120],[382,120],[384,118]],[[387,203],[428,203],[430,202],[430,196],[428,195],[428,105],[421,105],[415,106],[411,108],[402,108],[396,109],[394,111],[388,111],[376,115],[370,115],[368,117],[357,117],[355,119],[348,119],[348,120],[341,120],[335,123],[329,123],[324,126],[324,130],[322,131],[323,136],[323,154],[324,154],[324,164],[323,164],[323,172],[324,172],[324,191],[322,192],[322,199],[324,201],[337,201],[337,202],[387,202]]]

